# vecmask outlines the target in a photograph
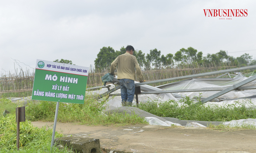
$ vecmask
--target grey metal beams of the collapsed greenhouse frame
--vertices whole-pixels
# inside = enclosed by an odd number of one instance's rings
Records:
[[[238,83],[235,83],[234,85],[231,85],[230,87],[211,87],[211,88],[195,88],[195,89],[182,89],[182,90],[163,90],[164,87],[166,86],[171,86],[171,85],[175,85],[177,83],[180,82],[184,82],[185,80],[182,79],[187,79],[187,80],[191,80],[192,78],[195,77],[199,77],[199,76],[207,76],[207,75],[214,75],[214,74],[220,74],[220,73],[225,73],[223,75],[220,75],[216,78],[213,79],[221,79],[221,76],[224,75],[229,75],[229,72],[234,72],[234,71],[241,71],[241,70],[248,70],[248,69],[255,69],[256,65],[251,65],[251,66],[244,66],[244,67],[240,67],[240,68],[231,68],[231,69],[227,69],[227,70],[218,70],[218,71],[211,71],[211,72],[206,72],[206,73],[199,73],[199,74],[193,74],[193,75],[186,75],[186,76],[179,76],[179,77],[174,77],[174,78],[166,78],[166,79],[161,79],[161,80],[154,80],[154,81],[148,81],[148,82],[142,82],[142,83],[135,83],[135,87],[140,86],[141,90],[144,92],[141,93],[137,93],[139,95],[143,95],[143,94],[161,94],[161,93],[173,93],[173,95],[175,97],[178,98],[184,98],[184,95],[179,95],[177,94],[178,92],[202,92],[202,91],[220,91],[217,92],[209,97],[203,98],[200,97],[201,100],[201,104],[204,104],[206,102],[209,102],[210,100],[212,101],[220,101],[220,99],[216,99],[217,97],[220,97],[221,95],[224,95],[225,93],[228,93],[232,90],[247,90],[247,89],[256,89],[256,86],[246,86],[246,87],[241,87],[249,82],[252,82],[254,80],[256,80],[256,75],[254,76],[250,76],[249,78],[242,80]],[[160,82],[167,82],[167,81],[173,81],[173,80],[182,80],[179,82],[174,82],[174,83],[168,83],[166,85],[160,85],[157,87],[152,87],[148,84],[152,84],[152,83],[160,83]],[[116,79],[116,81],[118,82],[118,80]],[[99,86],[99,87],[93,87],[93,88],[87,88],[87,90],[93,90],[93,89],[97,89],[97,88],[102,88],[105,86]],[[112,92],[118,90],[120,88],[120,85],[110,89],[109,88],[110,85],[106,85],[105,88],[108,88],[107,92],[104,92],[100,95],[95,96],[95,98],[101,99],[102,97],[109,95],[109,96],[115,96],[115,95],[121,95],[121,93],[114,93],[111,94]],[[138,102],[137,102],[138,104]],[[194,105],[198,105],[199,102],[195,103]]]

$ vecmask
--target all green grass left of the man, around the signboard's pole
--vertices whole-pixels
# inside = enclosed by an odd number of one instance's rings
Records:
[[[105,101],[106,102],[106,101]],[[121,126],[133,124],[148,124],[136,114],[103,114],[102,105],[90,96],[85,97],[85,104],[60,103],[58,122],[77,122],[78,124]],[[31,121],[54,121],[56,102],[28,102],[26,105],[26,122],[20,123],[20,150],[16,147],[16,117],[15,108],[22,104],[12,103],[9,99],[0,99],[0,111],[9,110],[10,114],[0,115],[0,153],[45,153],[50,152],[52,129],[33,127]],[[55,133],[55,137],[62,137]],[[67,153],[55,146],[53,153]]]

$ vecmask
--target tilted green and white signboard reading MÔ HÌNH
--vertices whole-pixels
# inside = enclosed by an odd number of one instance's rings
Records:
[[[83,104],[89,68],[36,61],[32,99]]]

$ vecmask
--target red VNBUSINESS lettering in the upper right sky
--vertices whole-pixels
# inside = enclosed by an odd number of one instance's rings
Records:
[[[247,17],[247,9],[204,9],[206,17]]]

